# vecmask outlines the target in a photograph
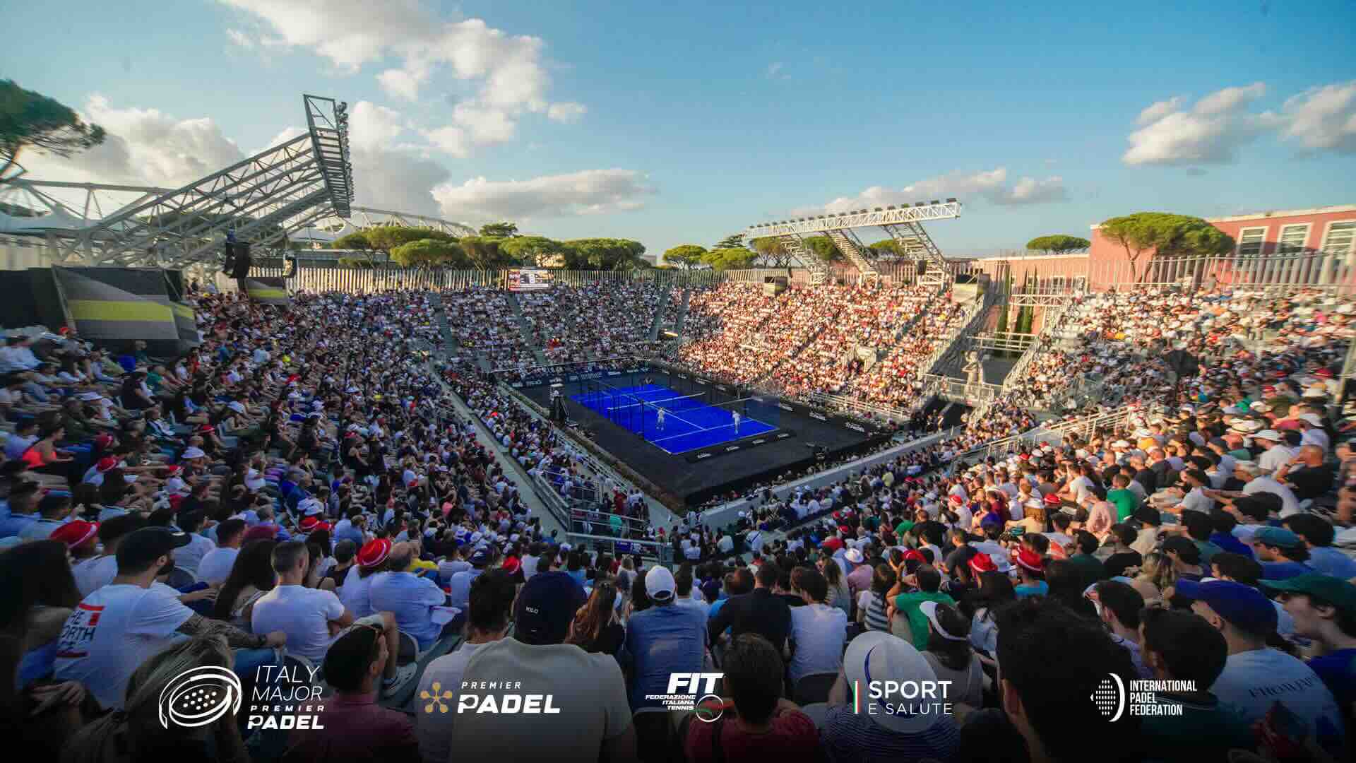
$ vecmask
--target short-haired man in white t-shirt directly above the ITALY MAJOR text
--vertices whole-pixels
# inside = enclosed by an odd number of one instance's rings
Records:
[[[306,588],[306,544],[279,543],[273,550],[273,570],[278,584],[255,601],[251,626],[255,633],[281,630],[287,634],[287,650],[320,663],[334,637],[353,625],[353,612],[331,591]]]

